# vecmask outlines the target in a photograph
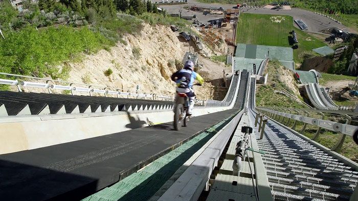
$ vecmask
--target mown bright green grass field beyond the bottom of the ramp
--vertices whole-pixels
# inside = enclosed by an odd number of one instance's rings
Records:
[[[301,62],[305,54],[316,54],[311,51],[312,49],[325,46],[324,42],[295,28],[292,16],[249,13],[240,14],[236,42],[292,47],[288,42],[288,36],[292,36],[289,32],[292,30],[295,30],[297,33],[299,47],[297,50],[294,50],[295,62]]]

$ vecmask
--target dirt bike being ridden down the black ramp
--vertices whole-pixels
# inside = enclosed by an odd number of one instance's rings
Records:
[[[201,84],[194,84],[201,86]],[[189,108],[189,98],[185,93],[176,93],[175,107],[174,107],[174,130],[180,130],[182,126],[188,126],[188,121],[191,116],[187,116]]]

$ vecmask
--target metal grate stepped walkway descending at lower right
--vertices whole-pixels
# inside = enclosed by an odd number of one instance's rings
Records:
[[[349,200],[358,183],[358,172],[273,121],[257,142],[275,200]]]

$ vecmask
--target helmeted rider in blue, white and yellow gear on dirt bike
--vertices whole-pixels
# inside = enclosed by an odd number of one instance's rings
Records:
[[[185,93],[188,96],[190,103],[187,110],[187,116],[191,116],[195,100],[193,82],[194,80],[197,80],[199,84],[202,85],[204,79],[194,72],[194,63],[188,60],[184,65],[184,69],[175,72],[171,76],[171,80],[176,83],[176,93]]]

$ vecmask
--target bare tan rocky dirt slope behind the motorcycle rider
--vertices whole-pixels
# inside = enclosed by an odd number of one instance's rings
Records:
[[[126,35],[127,44],[118,42],[109,51],[101,50],[85,56],[72,67],[68,80],[93,85],[107,85],[140,92],[171,95],[175,91],[170,76],[182,68],[187,48],[169,27],[145,25],[139,36]],[[113,73],[108,76],[108,69]],[[107,74],[107,75],[106,75]],[[213,86],[195,86],[197,98],[213,98]]]

